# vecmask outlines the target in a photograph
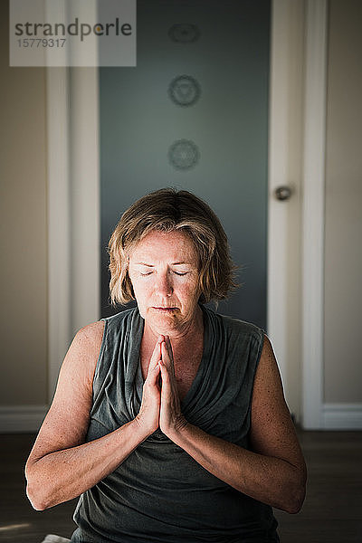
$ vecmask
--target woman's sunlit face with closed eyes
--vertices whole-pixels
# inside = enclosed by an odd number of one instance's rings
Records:
[[[157,334],[176,336],[194,322],[200,296],[198,254],[180,231],[148,233],[130,253],[138,310]]]

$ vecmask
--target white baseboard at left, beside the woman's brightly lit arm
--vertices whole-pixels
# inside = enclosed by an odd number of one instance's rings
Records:
[[[0,433],[35,433],[48,405],[0,405]]]

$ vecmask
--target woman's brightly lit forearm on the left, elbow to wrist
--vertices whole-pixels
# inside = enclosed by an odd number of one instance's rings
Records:
[[[90,443],[50,452],[28,461],[27,494],[34,509],[44,510],[89,490],[126,460],[147,433],[137,420]]]

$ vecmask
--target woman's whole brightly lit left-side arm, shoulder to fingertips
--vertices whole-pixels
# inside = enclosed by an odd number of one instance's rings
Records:
[[[84,443],[103,329],[103,321],[81,329],[64,358],[52,406],[25,466],[26,491],[35,510],[47,509],[87,491],[157,429],[159,367],[155,348],[136,419]]]

